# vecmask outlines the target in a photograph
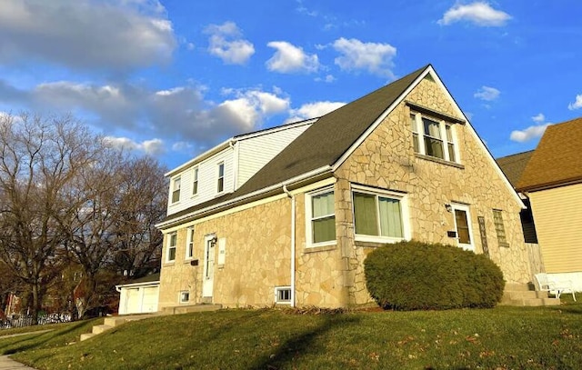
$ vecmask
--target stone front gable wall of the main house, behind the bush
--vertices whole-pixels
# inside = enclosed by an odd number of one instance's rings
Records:
[[[416,86],[406,101],[462,118],[439,86],[428,80]],[[455,125],[462,167],[429,160],[414,153],[409,115],[410,108],[404,102],[398,105],[336,171],[340,190],[336,202],[346,204],[344,210],[336,209],[341,214],[337,216],[347,221],[339,226],[346,230],[337,234],[344,235],[340,244],[352,249],[348,257],[356,282],[350,290],[352,303],[369,299],[362,262],[373,248],[354,242],[350,183],[406,193],[411,236],[420,241],[456,245],[456,239],[447,237],[448,230],[455,230],[455,221],[445,204],[469,205],[476,253],[483,252],[477,216],[484,216],[489,255],[501,267],[507,282],[530,281],[516,195],[487,158],[477,137],[467,125]],[[494,208],[503,211],[509,247],[497,243]]]

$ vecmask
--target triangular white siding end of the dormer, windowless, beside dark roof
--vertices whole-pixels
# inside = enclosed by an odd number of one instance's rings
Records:
[[[256,135],[240,140],[236,187],[245,184],[264,165],[286,148],[311,125],[292,126],[268,135]]]

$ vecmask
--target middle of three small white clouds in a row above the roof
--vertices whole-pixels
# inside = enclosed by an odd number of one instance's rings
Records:
[[[266,61],[266,68],[269,71],[281,74],[310,73],[316,72],[319,68],[317,55],[308,55],[301,47],[286,41],[271,41],[267,46],[276,49],[275,55]]]

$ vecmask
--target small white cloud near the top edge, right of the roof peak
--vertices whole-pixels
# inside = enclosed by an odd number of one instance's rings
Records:
[[[467,5],[454,5],[437,23],[450,25],[455,22],[467,21],[481,26],[502,26],[509,19],[511,19],[511,15],[492,8],[487,2],[477,1]]]

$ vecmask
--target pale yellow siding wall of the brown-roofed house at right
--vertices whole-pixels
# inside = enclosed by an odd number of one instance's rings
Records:
[[[547,273],[582,272],[582,184],[529,194]]]

